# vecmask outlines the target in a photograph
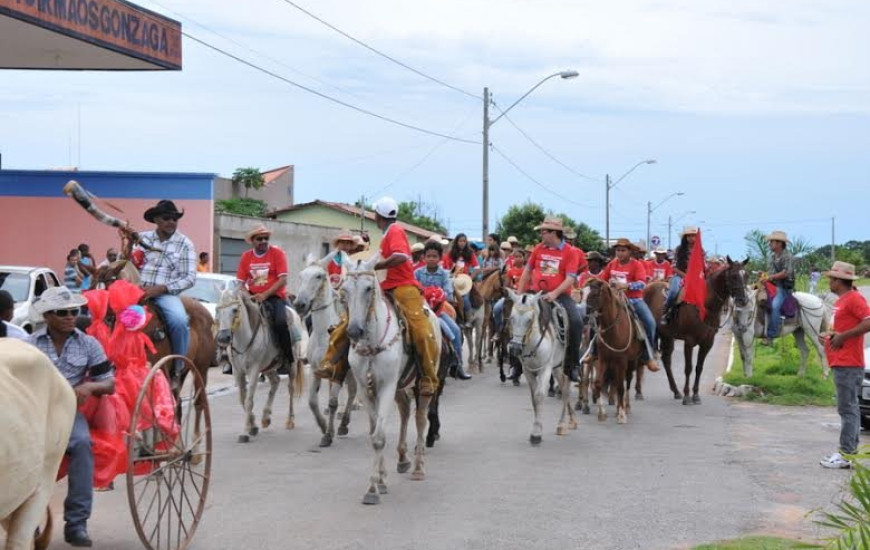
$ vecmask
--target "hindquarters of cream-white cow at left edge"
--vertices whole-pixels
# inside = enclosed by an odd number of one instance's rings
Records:
[[[33,346],[0,338],[0,521],[6,550],[33,547],[57,470],[69,444],[76,397],[69,382]],[[51,516],[36,541],[51,539]]]

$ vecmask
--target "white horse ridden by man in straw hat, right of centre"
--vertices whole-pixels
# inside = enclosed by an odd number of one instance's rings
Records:
[[[557,435],[566,435],[568,429],[577,429],[577,418],[571,407],[571,381],[565,376],[562,363],[565,359],[565,344],[555,336],[554,321],[545,327],[541,326],[540,294],[519,294],[508,289],[513,301],[510,317],[511,355],[519,358],[523,373],[529,382],[532,393],[532,408],[535,420],[529,441],[532,445],[540,445],[543,426],[541,425],[541,409],[543,407],[546,386],[550,376],[555,376],[562,392],[562,415],[556,428]]]

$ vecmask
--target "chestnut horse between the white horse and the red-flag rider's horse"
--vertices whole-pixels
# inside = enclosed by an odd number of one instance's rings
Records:
[[[616,422],[625,424],[631,412],[631,402],[626,396],[630,384],[629,372],[636,370],[640,381],[642,367],[638,363],[644,342],[638,338],[640,328],[625,295],[599,279],[592,279],[587,285],[589,296],[586,298],[586,314],[595,319],[598,327],[595,335],[598,365],[593,389],[593,400],[598,404],[598,420],[607,419],[601,390],[609,382],[616,391]]]

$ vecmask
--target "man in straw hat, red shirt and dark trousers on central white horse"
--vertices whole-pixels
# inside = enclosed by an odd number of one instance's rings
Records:
[[[558,302],[568,314],[568,346],[565,349],[565,373],[577,381],[580,342],[583,338],[583,318],[571,299],[571,287],[577,280],[579,250],[565,242],[565,225],[561,218],[547,217],[535,227],[541,233],[541,243],[531,256],[517,284],[519,292],[543,292],[544,300]],[[585,263],[585,255],[584,255]]]

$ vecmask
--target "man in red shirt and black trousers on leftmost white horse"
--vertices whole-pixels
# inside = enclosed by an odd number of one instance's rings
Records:
[[[251,299],[265,304],[272,335],[284,353],[285,362],[278,367],[278,372],[287,374],[293,364],[293,341],[287,325],[287,256],[283,250],[269,244],[271,236],[272,232],[263,224],[248,232],[245,241],[254,248],[242,254],[236,279],[245,283]]]

